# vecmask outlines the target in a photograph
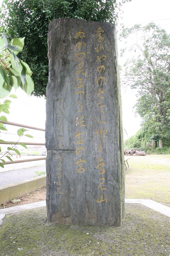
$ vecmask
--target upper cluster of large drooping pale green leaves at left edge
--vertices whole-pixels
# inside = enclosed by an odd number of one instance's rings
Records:
[[[28,95],[34,89],[29,66],[17,57],[22,50],[24,38],[14,38],[8,43],[6,35],[0,38],[0,98],[6,97],[12,87],[21,87]]]

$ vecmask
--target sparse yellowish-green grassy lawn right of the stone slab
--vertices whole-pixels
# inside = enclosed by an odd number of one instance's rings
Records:
[[[170,155],[130,156],[125,198],[152,199],[170,206]]]

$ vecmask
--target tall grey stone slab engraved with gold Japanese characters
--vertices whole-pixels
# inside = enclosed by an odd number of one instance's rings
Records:
[[[124,150],[115,25],[55,19],[48,47],[48,217],[120,226]]]

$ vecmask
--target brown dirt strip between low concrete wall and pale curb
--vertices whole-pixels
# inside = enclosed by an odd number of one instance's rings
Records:
[[[6,203],[2,203],[0,205],[0,209],[18,206],[18,205],[27,204],[27,203],[35,203],[35,202],[44,201],[44,200],[46,200],[46,187],[36,189],[34,192],[16,197]]]

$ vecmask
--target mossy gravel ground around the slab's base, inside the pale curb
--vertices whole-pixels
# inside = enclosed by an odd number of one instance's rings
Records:
[[[170,218],[126,204],[121,227],[49,223],[46,207],[7,214],[0,256],[169,256]]]

